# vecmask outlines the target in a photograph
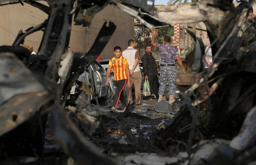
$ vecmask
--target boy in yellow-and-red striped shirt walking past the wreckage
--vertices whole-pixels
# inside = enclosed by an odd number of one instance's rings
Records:
[[[108,63],[108,70],[107,70],[107,77],[106,77],[106,85],[109,85],[109,74],[111,71],[111,68],[114,72],[114,82],[116,86],[115,95],[113,98],[112,108],[111,110],[113,112],[124,112],[126,109],[126,101],[124,98],[124,92],[123,89],[127,83],[128,88],[131,86],[130,82],[130,70],[129,70],[129,64],[126,60],[126,58],[121,56],[121,47],[115,46],[114,48],[114,55],[112,59],[109,60]],[[124,106],[123,111],[115,110],[117,108],[119,100],[121,101],[122,105]]]

